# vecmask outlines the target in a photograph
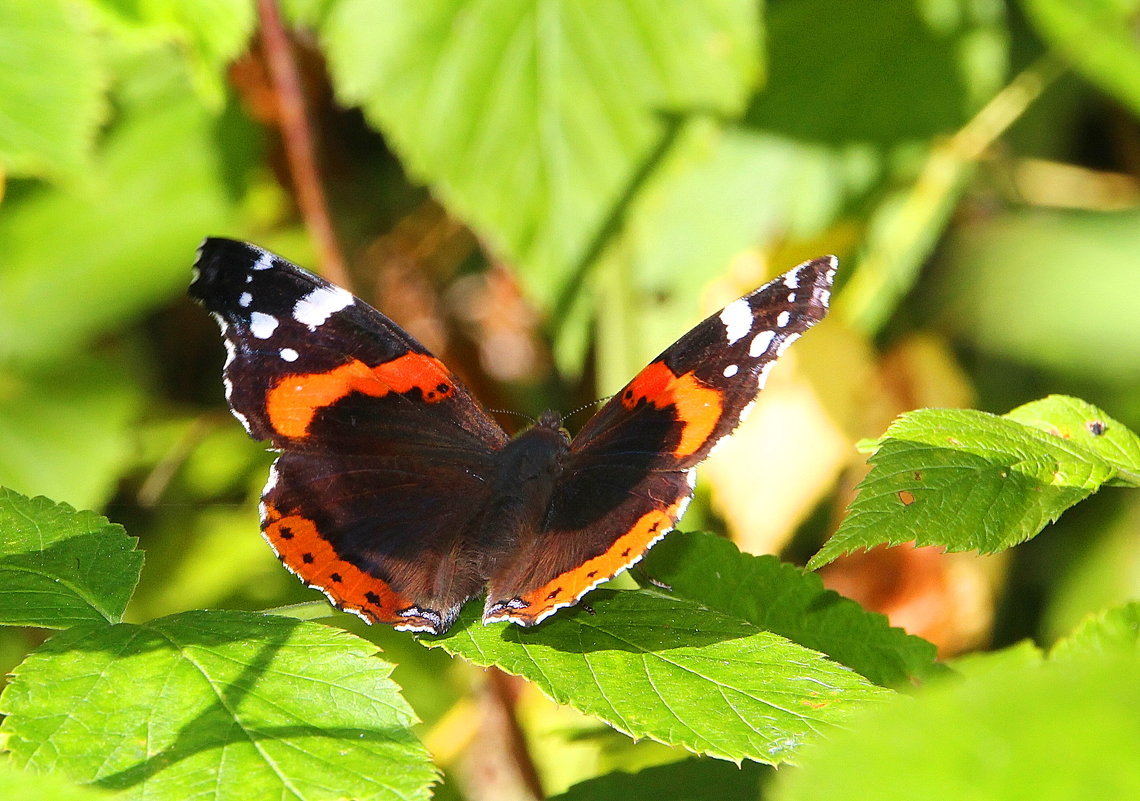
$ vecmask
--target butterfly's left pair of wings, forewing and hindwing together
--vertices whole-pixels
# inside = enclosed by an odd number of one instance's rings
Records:
[[[234,415],[282,451],[261,507],[282,562],[365,620],[446,630],[482,589],[467,543],[505,432],[399,326],[268,251],[206,239],[189,292]]]

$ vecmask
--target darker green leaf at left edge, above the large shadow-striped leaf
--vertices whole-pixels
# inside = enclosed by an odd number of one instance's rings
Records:
[[[136,542],[93,512],[0,488],[0,623],[122,620],[142,569]]]

